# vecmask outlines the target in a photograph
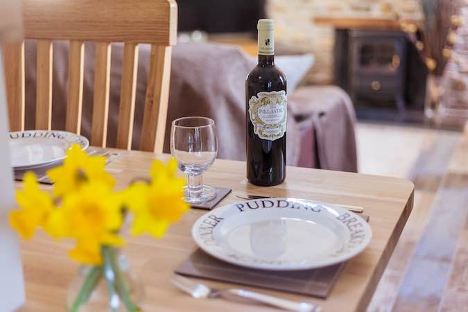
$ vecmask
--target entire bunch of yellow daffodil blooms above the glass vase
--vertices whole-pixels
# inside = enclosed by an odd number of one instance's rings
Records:
[[[10,213],[10,223],[21,236],[31,238],[37,227],[55,239],[76,242],[71,258],[88,265],[103,262],[105,246],[119,246],[124,211],[130,211],[132,233],[161,237],[189,209],[183,200],[183,178],[176,177],[175,159],[153,162],[150,182],[137,182],[123,191],[112,191],[114,179],[105,172],[103,157],[90,157],[79,146],[67,152],[63,166],[49,171],[54,193],[42,191],[33,173],[17,191],[21,209]],[[54,200],[60,200],[55,206]]]

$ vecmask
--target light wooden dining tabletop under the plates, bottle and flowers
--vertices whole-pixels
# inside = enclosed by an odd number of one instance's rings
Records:
[[[107,170],[114,175],[119,188],[125,187],[135,177],[147,177],[152,159],[169,157],[134,150],[113,151],[120,157],[108,164]],[[245,162],[216,159],[203,179],[212,187],[233,190],[218,207],[239,201],[234,192],[241,192],[364,208],[364,213],[370,217],[372,241],[364,252],[347,261],[327,299],[198,280],[217,288],[235,286],[291,300],[313,302],[322,306],[323,311],[365,311],[413,208],[413,183],[396,177],[288,167],[283,184],[265,188],[247,182]],[[21,187],[21,182],[17,183],[17,187]],[[197,218],[206,213],[191,209],[159,240],[150,236],[125,236],[127,244],[123,252],[130,261],[132,271],[139,275],[145,286],[144,311],[277,311],[269,306],[223,299],[196,300],[169,283],[168,278],[175,268],[196,250],[191,227]],[[19,311],[65,311],[67,288],[79,266],[69,259],[67,248],[67,243],[53,241],[40,231],[31,241],[21,241],[26,304]]]

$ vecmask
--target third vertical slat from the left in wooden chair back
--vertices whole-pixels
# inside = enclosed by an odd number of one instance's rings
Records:
[[[65,129],[80,134],[83,106],[83,62],[85,45],[72,40],[69,48],[67,123]]]

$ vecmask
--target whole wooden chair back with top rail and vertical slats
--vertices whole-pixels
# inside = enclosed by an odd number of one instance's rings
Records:
[[[151,44],[140,150],[162,152],[171,46],[177,40],[175,0],[22,0],[24,39],[37,40],[36,129],[51,129],[52,40],[69,40],[66,130],[79,133],[84,42],[96,42],[91,144],[106,146],[110,43],[124,42],[116,146],[130,149],[138,44]],[[3,46],[10,129],[24,130],[24,42]]]

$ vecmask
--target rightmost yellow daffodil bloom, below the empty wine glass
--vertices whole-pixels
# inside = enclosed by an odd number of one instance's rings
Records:
[[[132,234],[148,233],[161,237],[171,223],[189,209],[183,200],[183,178],[175,177],[177,164],[171,159],[167,165],[155,160],[151,167],[150,184],[138,182],[125,192],[125,206],[135,215]]]

